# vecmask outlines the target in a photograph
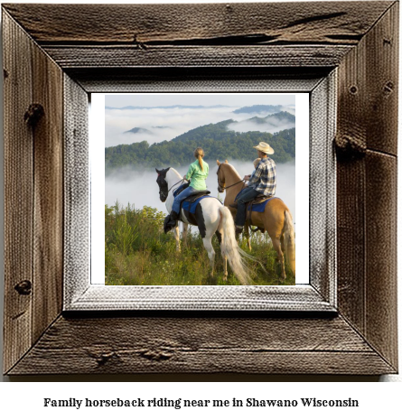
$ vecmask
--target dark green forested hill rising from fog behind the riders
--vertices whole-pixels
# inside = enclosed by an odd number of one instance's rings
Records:
[[[209,124],[164,141],[148,145],[143,141],[132,145],[117,145],[105,148],[106,173],[122,167],[154,168],[181,166],[192,163],[196,147],[202,147],[207,162],[216,159],[237,159],[252,161],[257,157],[254,145],[266,142],[271,145],[276,163],[285,163],[295,157],[295,128],[280,131],[275,135],[259,131],[237,133],[228,131],[229,121]]]

